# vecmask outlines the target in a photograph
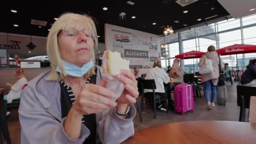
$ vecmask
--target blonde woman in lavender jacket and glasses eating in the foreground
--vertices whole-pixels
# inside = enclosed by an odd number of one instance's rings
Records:
[[[21,144],[119,144],[134,134],[136,79],[117,75],[125,90],[115,102],[93,64],[97,44],[91,17],[66,13],[55,21],[47,39],[52,69],[22,91]]]

